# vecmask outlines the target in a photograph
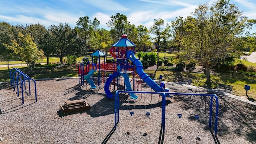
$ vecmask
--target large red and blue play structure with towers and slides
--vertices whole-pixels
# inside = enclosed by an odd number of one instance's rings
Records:
[[[120,86],[120,76],[124,78],[124,88],[128,91],[135,90],[136,82],[135,76],[139,76],[146,84],[148,84],[152,90],[155,92],[169,92],[168,88],[163,88],[159,86],[154,80],[150,78],[143,71],[142,63],[138,58],[136,58],[135,47],[136,45],[132,43],[127,37],[126,34],[121,36],[122,38],[112,45],[112,48],[109,50],[110,54],[113,56],[113,63],[105,62],[105,54],[101,51],[96,51],[92,54],[92,64],[90,64],[88,58],[84,58],[83,62],[78,66],[78,79],[79,84],[84,86],[84,81],[88,82],[92,89],[96,88],[94,85],[94,72],[97,73],[98,86],[100,86],[100,81],[104,83],[104,91],[107,98],[113,98],[114,95],[110,92],[110,85],[114,82],[114,90],[117,90]],[[97,62],[94,63],[93,56],[97,56]],[[104,61],[100,64],[100,56],[104,56]],[[92,71],[93,70],[93,71]],[[106,79],[106,72],[111,72],[108,79]],[[87,74],[87,75],[86,75]],[[132,75],[132,84],[130,83],[130,78],[128,74]],[[89,78],[92,76],[92,80]],[[102,78],[101,78],[102,77]],[[132,92],[128,93],[133,99],[138,98]],[[162,96],[162,93],[160,93]],[[166,94],[166,97],[171,97],[169,94]]]

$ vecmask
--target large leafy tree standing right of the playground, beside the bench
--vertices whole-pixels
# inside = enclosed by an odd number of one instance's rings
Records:
[[[202,4],[193,17],[186,18],[186,35],[182,37],[181,56],[194,59],[206,68],[206,84],[211,86],[210,68],[219,59],[237,57],[236,40],[242,35],[246,17],[229,0],[214,2],[210,8]]]

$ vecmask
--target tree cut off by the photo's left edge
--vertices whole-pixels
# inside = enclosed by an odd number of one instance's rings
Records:
[[[8,49],[4,44],[11,45],[12,38],[12,26],[7,22],[0,22],[0,58],[6,61],[8,70],[10,68],[10,60],[15,58],[13,50]]]

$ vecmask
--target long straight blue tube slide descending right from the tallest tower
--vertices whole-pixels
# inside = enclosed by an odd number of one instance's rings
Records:
[[[138,75],[144,82],[146,82],[146,84],[148,84],[148,86],[150,86],[150,88],[152,88],[155,92],[164,92],[164,89],[161,88],[156,82],[154,82],[154,80],[152,80],[146,74],[146,72],[143,71],[142,63],[140,62],[140,60],[138,58],[136,58],[136,56],[133,54],[133,52],[131,50],[129,50],[127,52],[127,58],[129,58],[132,61],[132,63],[136,66]],[[169,89],[166,88],[165,92],[169,92]],[[160,94],[160,95],[162,96],[162,94]],[[166,94],[166,97],[171,97],[171,96]]]

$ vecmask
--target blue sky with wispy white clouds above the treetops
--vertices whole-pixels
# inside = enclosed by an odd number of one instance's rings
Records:
[[[59,23],[75,27],[80,17],[89,16],[100,21],[99,28],[116,13],[127,16],[135,26],[150,28],[154,19],[163,19],[165,24],[176,17],[189,16],[199,4],[211,5],[217,0],[0,0],[0,22],[12,25],[42,24],[46,28]],[[230,0],[249,19],[256,19],[256,0]],[[251,33],[256,32],[256,26]]]

